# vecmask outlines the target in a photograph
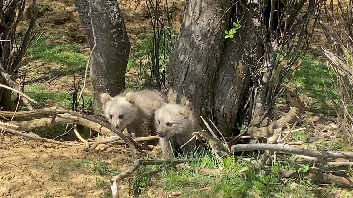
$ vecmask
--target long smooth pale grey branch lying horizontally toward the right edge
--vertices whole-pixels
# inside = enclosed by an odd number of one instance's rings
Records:
[[[277,144],[237,144],[232,146],[234,152],[238,151],[253,151],[253,150],[268,150],[268,151],[283,151],[291,154],[305,155],[318,158],[331,159],[353,159],[353,152],[339,152],[339,151],[316,151],[310,149],[303,149],[300,147],[292,147]]]

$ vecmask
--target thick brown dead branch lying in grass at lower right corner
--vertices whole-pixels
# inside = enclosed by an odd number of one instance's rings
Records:
[[[336,184],[343,184],[352,186],[353,181],[349,178],[336,176],[327,173],[308,173],[308,172],[295,172],[295,171],[281,171],[280,175],[282,178],[307,178],[315,181],[330,181]]]

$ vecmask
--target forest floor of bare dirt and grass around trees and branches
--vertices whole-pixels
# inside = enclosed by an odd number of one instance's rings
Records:
[[[120,8],[131,42],[131,58],[126,72],[126,85],[134,88],[138,82],[140,60],[147,56],[150,42],[151,23],[144,2],[120,0]],[[173,1],[168,0],[169,6]],[[30,47],[23,62],[20,74],[25,76],[24,91],[40,103],[39,107],[60,106],[71,109],[74,79],[83,83],[89,51],[83,27],[73,0],[37,0],[40,8],[38,23],[46,25],[41,36]],[[172,29],[179,31],[184,14],[185,0],[175,0]],[[135,11],[135,7],[137,9]],[[135,12],[134,12],[135,11]],[[28,19],[21,24],[25,29]],[[324,42],[322,31],[314,35],[318,42]],[[300,119],[292,141],[304,141],[319,132],[331,135],[337,130],[335,111],[324,90],[323,82],[330,91],[331,75],[318,50],[313,46],[308,52],[300,70],[295,74],[291,85],[300,93],[312,97],[308,111]],[[46,82],[57,76],[53,81]],[[75,76],[75,77],[74,77]],[[22,80],[19,79],[19,83]],[[146,85],[147,80],[143,82]],[[84,90],[85,109],[92,109],[91,88]],[[283,97],[284,98],[284,97]],[[289,109],[288,102],[280,99],[276,104],[274,119],[284,115]],[[25,110],[24,108],[22,110]],[[74,135],[60,136],[66,125],[38,129],[36,134],[47,138],[62,138],[77,141]],[[326,129],[325,129],[326,128]],[[325,129],[325,130],[323,130]],[[89,133],[82,134],[88,138]],[[325,149],[331,140],[312,144],[311,149]],[[84,146],[66,147],[51,143],[25,141],[17,136],[0,137],[0,197],[17,198],[108,198],[111,197],[109,179],[126,170],[134,160],[128,148],[98,147],[94,151],[83,151]],[[346,148],[339,137],[332,150]],[[153,155],[153,154],[151,154]],[[333,184],[315,185],[310,180],[285,180],[279,178],[281,170],[298,170],[293,164],[283,165],[274,162],[271,174],[250,171],[250,166],[228,157],[222,162],[213,155],[204,153],[194,156],[191,169],[175,169],[170,166],[141,167],[130,179],[119,185],[121,197],[353,197],[352,189]],[[226,175],[214,176],[193,171],[200,168],[222,168]],[[305,167],[301,167],[305,168]],[[328,167],[337,171],[337,167]],[[340,174],[352,174],[352,169],[340,168]],[[202,189],[201,191],[197,191]],[[174,193],[174,194],[173,194]],[[176,193],[176,194],[175,194]]]

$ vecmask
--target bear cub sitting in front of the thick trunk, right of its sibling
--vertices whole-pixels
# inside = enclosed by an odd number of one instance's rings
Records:
[[[191,110],[183,105],[166,104],[155,101],[155,125],[157,134],[160,136],[159,142],[163,157],[172,157],[173,154],[185,154],[193,151],[196,140],[183,146],[195,132],[195,123]],[[170,141],[170,143],[169,143]]]

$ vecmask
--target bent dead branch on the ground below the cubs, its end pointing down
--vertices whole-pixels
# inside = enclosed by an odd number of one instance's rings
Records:
[[[112,197],[113,198],[118,198],[119,197],[119,192],[118,192],[118,182],[121,181],[124,178],[130,177],[132,173],[134,173],[141,165],[166,165],[166,164],[179,164],[179,163],[185,163],[185,162],[191,162],[192,159],[165,159],[165,160],[143,160],[143,159],[138,159],[136,160],[133,165],[128,168],[126,171],[121,172],[118,175],[115,175],[111,180],[110,180],[110,188],[112,188]]]

